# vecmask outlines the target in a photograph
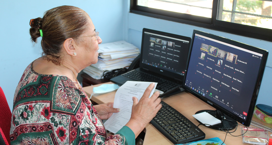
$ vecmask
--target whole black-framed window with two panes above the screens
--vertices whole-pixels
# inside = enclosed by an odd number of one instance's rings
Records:
[[[272,41],[271,1],[132,0],[131,12]]]

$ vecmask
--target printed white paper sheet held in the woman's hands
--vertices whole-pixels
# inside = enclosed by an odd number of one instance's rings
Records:
[[[152,82],[127,81],[116,91],[113,107],[120,108],[121,110],[118,113],[113,113],[104,123],[107,130],[116,133],[128,123],[133,105],[132,97],[137,97],[138,100],[140,100],[144,91],[151,83]],[[156,86],[157,83],[155,83],[149,98],[153,95]]]

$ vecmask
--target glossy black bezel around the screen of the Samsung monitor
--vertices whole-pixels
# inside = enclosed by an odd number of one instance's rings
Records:
[[[209,100],[209,99],[203,97],[202,95],[200,95],[199,93],[192,91],[189,87],[187,87],[185,85],[186,77],[187,77],[187,70],[188,70],[188,66],[189,66],[189,62],[190,62],[190,57],[191,57],[191,52],[192,52],[192,47],[193,47],[195,34],[206,36],[206,37],[209,37],[209,38],[221,41],[221,42],[225,42],[227,44],[231,44],[231,45],[234,45],[234,46],[237,46],[237,47],[245,48],[247,50],[263,54],[261,64],[260,64],[260,67],[259,67],[259,71],[258,71],[258,77],[257,77],[255,85],[254,85],[255,86],[254,87],[254,92],[253,92],[252,97],[251,97],[251,103],[250,103],[250,106],[249,106],[246,121],[240,119],[238,116],[233,115],[230,111],[228,111],[228,110],[224,109],[223,107],[221,107],[220,105],[214,103],[214,101]],[[224,37],[221,37],[221,36],[217,36],[217,35],[213,35],[213,34],[210,34],[210,33],[202,32],[202,31],[199,31],[199,30],[193,30],[193,35],[192,35],[192,40],[191,40],[191,45],[190,45],[190,50],[189,50],[189,56],[188,56],[187,65],[186,65],[186,73],[185,73],[184,81],[183,81],[183,88],[185,90],[187,90],[188,92],[190,92],[191,94],[193,94],[194,96],[201,99],[202,101],[206,102],[210,106],[214,107],[215,109],[220,110],[225,115],[233,118],[237,122],[240,122],[241,124],[248,127],[250,125],[250,123],[251,123],[251,119],[252,119],[252,116],[253,116],[253,112],[254,112],[256,100],[257,100],[257,97],[258,97],[259,89],[260,89],[260,86],[261,86],[261,81],[262,81],[262,77],[263,77],[263,74],[264,74],[264,69],[265,69],[265,64],[267,62],[267,58],[268,58],[268,51],[267,50],[263,50],[261,48],[257,48],[257,47],[251,46],[251,45],[243,44],[243,43],[238,42],[238,41],[234,41],[234,40],[224,38]]]

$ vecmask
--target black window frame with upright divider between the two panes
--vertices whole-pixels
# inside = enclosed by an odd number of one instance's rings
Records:
[[[272,42],[272,29],[266,29],[261,27],[248,26],[248,25],[243,25],[238,23],[231,23],[227,21],[217,20],[216,16],[218,12],[218,7],[220,7],[220,5],[222,4],[223,4],[223,0],[213,1],[212,18],[138,6],[137,0],[131,0],[130,13],[140,14],[140,15],[144,15],[148,17],[160,18],[164,20],[189,24],[193,26],[208,28],[208,29],[217,30],[221,32],[227,32],[227,33],[231,33],[235,35]]]

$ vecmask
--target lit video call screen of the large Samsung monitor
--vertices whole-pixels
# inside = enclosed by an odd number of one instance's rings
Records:
[[[262,54],[195,34],[185,85],[246,120]]]

